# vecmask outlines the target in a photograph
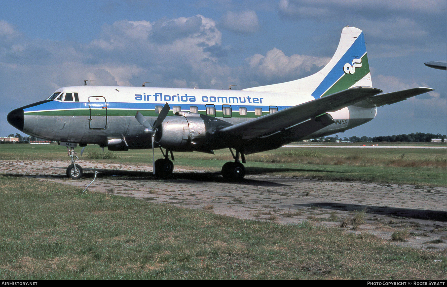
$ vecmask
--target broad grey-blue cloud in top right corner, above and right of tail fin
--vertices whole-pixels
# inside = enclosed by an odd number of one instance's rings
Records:
[[[358,27],[375,43],[379,57],[405,56],[445,47],[446,1],[295,1],[278,2],[290,20],[334,22]],[[430,21],[427,21],[430,19]]]

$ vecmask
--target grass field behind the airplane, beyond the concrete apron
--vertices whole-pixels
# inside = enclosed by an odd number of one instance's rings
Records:
[[[312,148],[312,144],[308,145],[307,148],[279,148],[247,155],[245,164],[247,174],[308,177],[330,181],[447,186],[447,149]],[[417,145],[433,144],[417,143]],[[76,150],[80,152],[80,148]],[[106,151],[108,159],[97,159],[102,157],[101,149],[89,145],[80,159],[152,165],[151,153],[151,150]],[[220,171],[226,161],[232,160],[228,150],[215,151],[215,155],[199,152],[177,152],[174,155],[175,168],[207,171]],[[156,150],[156,158],[160,157],[160,150]],[[65,160],[68,165],[69,157],[66,148],[55,144],[2,144],[0,160]]]

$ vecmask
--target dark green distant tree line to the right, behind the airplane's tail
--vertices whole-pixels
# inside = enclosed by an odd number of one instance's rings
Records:
[[[312,139],[312,142],[325,142],[325,143],[335,143],[337,140],[339,141],[349,141],[352,143],[358,143],[358,142],[407,142],[407,143],[430,143],[431,139],[441,139],[442,142],[445,142],[447,139],[447,135],[441,135],[441,134],[426,134],[423,132],[417,132],[417,133],[411,133],[409,135],[382,135],[382,136],[375,136],[373,138],[362,136],[359,138],[358,136],[351,136],[349,138],[343,137],[339,138],[338,135],[335,137],[328,136],[328,137],[321,137],[319,139]]]

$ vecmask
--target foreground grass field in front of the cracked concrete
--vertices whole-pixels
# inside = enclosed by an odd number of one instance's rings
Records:
[[[446,279],[447,251],[0,176],[0,278]],[[442,261],[439,261],[442,260]]]

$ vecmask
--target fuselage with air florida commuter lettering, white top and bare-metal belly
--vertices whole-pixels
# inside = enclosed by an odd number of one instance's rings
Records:
[[[99,144],[111,149],[116,146],[116,150],[124,147],[124,141],[130,149],[151,148],[151,134],[144,131],[135,114],[139,111],[153,123],[166,102],[171,106],[168,116],[174,116],[177,111],[188,111],[234,125],[314,99],[291,93],[112,86],[64,87],[55,94],[52,100],[12,111],[8,120],[14,127],[38,138],[81,145]],[[335,122],[305,138],[357,127],[373,119],[376,108],[348,106],[329,114]],[[208,137],[214,133],[203,132]],[[293,140],[300,139],[304,138]],[[207,149],[226,148],[231,141],[208,141]],[[172,149],[194,150],[185,146]]]

